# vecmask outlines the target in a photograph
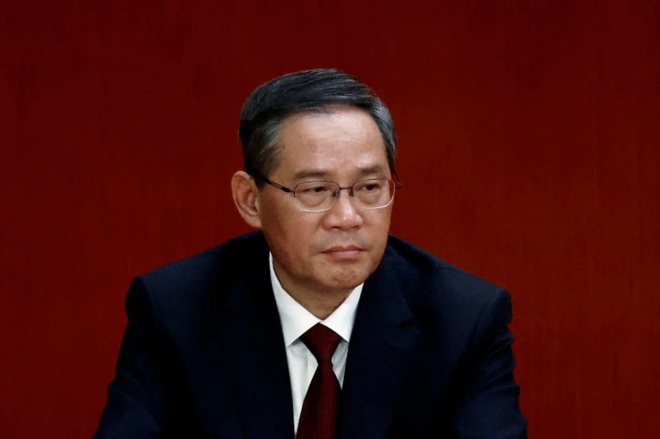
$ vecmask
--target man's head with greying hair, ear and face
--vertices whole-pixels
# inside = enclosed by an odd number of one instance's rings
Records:
[[[232,178],[234,201],[263,230],[283,287],[294,297],[332,295],[364,282],[382,258],[392,210],[396,135],[386,106],[342,71],[302,71],[250,95],[240,137],[246,172]],[[362,189],[309,186],[316,181]]]

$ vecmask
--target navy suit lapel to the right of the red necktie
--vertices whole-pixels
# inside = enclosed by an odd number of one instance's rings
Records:
[[[349,344],[338,438],[385,438],[411,361],[421,346],[402,260],[387,254],[364,283]]]

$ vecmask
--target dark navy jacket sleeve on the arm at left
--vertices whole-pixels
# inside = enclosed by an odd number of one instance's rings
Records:
[[[128,325],[97,439],[155,438],[170,419],[171,348],[140,278],[133,280],[126,296],[126,315]]]

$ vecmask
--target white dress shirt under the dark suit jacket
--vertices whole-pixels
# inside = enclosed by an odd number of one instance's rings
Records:
[[[300,412],[303,410],[305,394],[307,394],[307,388],[318,365],[314,355],[300,340],[300,336],[320,322],[342,337],[342,341],[340,341],[332,356],[332,369],[337,376],[339,385],[343,387],[349,341],[351,340],[355,312],[358,310],[358,302],[364,284],[356,286],[346,297],[346,300],[327,319],[321,320],[284,291],[275,274],[272,254],[270,254],[270,282],[273,286],[277,311],[280,314],[282,324],[284,344],[287,350],[291,396],[294,403],[294,431],[298,433],[298,420],[300,420]]]

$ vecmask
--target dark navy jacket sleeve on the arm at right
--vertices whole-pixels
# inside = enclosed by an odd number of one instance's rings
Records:
[[[463,398],[454,416],[460,438],[527,438],[527,421],[518,403],[520,387],[514,381],[510,321],[511,298],[500,290],[481,313],[474,350],[465,364]]]

